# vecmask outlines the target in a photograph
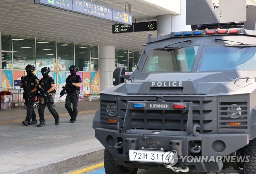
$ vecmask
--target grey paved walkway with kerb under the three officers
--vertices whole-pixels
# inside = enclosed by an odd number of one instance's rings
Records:
[[[55,107],[59,125],[45,109],[45,127],[22,125],[25,108],[0,110],[0,174],[56,174],[102,159],[103,146],[92,129],[100,100],[80,101],[76,123],[69,122],[64,105]],[[37,108],[35,112],[38,116]]]

